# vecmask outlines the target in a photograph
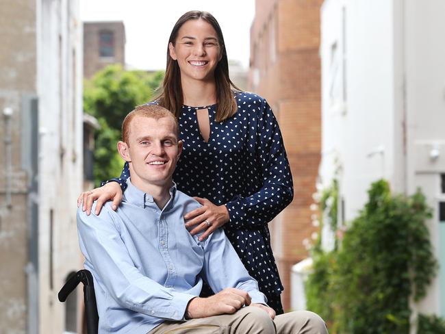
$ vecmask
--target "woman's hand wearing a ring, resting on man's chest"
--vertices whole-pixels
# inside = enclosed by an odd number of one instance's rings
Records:
[[[229,210],[225,205],[215,205],[207,198],[194,197],[194,199],[203,206],[188,212],[184,216],[184,220],[186,220],[186,228],[194,227],[190,231],[191,235],[205,230],[203,235],[199,237],[199,240],[203,241],[218,227],[222,227],[226,222],[229,222]]]

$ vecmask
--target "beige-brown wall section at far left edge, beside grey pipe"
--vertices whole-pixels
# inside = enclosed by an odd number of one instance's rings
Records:
[[[21,109],[36,94],[36,1],[5,0],[0,3],[0,323],[5,333],[27,331],[27,175],[21,161]],[[10,118],[11,175],[7,175],[8,131],[4,108]],[[6,179],[12,181],[12,203],[6,207]]]

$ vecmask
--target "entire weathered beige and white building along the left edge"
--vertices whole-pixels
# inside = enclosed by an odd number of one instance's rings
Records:
[[[0,331],[76,331],[77,300],[57,293],[81,267],[78,1],[5,0],[0,12]]]

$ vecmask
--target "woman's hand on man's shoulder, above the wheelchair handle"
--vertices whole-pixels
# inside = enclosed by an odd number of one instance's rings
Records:
[[[98,215],[101,212],[103,203],[108,200],[113,200],[112,208],[116,210],[122,202],[122,189],[117,182],[108,182],[102,187],[82,192],[77,198],[77,207],[82,205],[82,211],[86,211],[87,216],[91,213],[92,203],[96,201],[96,210],[94,214]]]

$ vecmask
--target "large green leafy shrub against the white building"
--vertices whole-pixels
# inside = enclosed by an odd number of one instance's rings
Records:
[[[424,224],[431,209],[420,191],[392,195],[383,180],[368,195],[341,245],[314,249],[307,305],[332,333],[408,333],[409,296],[423,298],[437,269]]]

